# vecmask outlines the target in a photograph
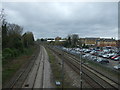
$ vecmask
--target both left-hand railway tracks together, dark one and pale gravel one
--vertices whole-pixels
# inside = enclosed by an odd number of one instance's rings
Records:
[[[32,58],[32,61],[25,65],[24,69],[20,72],[17,78],[10,82],[9,87],[6,88],[43,88],[44,78],[44,50],[43,46],[39,47],[39,52],[35,53],[36,57]],[[38,54],[38,55],[37,55]],[[42,73],[40,73],[42,72]],[[39,79],[38,79],[39,78]]]

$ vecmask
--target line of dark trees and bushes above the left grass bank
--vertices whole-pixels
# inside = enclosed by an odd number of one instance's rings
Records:
[[[15,58],[34,45],[32,32],[23,32],[23,27],[3,21],[2,23],[2,58]]]

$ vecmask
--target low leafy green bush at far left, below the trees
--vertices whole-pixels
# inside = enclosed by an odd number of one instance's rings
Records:
[[[3,59],[8,59],[14,57],[14,51],[10,48],[5,48],[2,52]]]

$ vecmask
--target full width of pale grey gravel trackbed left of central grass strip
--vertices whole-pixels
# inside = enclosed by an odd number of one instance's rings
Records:
[[[26,87],[27,86],[27,87]],[[23,88],[54,88],[51,84],[51,67],[43,46]]]

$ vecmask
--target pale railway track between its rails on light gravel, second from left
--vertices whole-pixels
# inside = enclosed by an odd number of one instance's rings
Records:
[[[44,51],[43,47],[41,46],[41,52],[35,62],[33,69],[25,80],[22,88],[43,88],[44,58]]]

